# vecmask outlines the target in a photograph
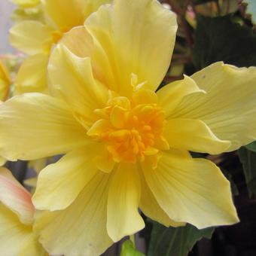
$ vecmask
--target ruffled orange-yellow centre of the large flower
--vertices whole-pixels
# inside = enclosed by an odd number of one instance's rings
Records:
[[[135,104],[119,96],[95,113],[100,118],[87,134],[105,142],[116,163],[144,161],[146,156],[157,157],[160,150],[169,149],[162,136],[164,113],[156,103]]]

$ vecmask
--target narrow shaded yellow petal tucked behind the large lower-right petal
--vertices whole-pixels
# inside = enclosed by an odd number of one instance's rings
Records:
[[[184,222],[172,221],[166,212],[161,209],[160,205],[157,203],[154,195],[152,194],[148,184],[145,181],[145,177],[142,174],[142,196],[139,202],[139,208],[142,212],[154,221],[165,225],[166,227],[181,227],[184,226]]]

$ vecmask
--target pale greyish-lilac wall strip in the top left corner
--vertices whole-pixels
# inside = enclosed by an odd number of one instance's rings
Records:
[[[14,52],[8,42],[8,30],[11,27],[11,13],[14,5],[9,0],[0,0],[0,54]]]

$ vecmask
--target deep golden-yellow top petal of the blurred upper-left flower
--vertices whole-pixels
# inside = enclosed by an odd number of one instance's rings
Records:
[[[54,23],[61,29],[69,30],[82,25],[100,5],[108,2],[111,0],[45,0],[44,5]]]

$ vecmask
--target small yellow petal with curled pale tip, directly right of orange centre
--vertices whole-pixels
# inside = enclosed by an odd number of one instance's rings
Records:
[[[209,154],[221,154],[230,142],[218,139],[201,120],[175,118],[167,121],[164,138],[171,148]]]

